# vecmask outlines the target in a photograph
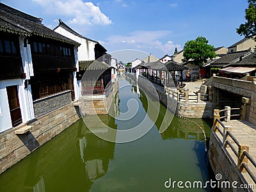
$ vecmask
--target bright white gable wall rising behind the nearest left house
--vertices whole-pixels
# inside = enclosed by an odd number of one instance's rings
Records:
[[[97,44],[96,42],[92,42],[90,40],[86,40],[85,38],[76,36],[73,33],[70,33],[69,31],[61,28],[60,26],[56,28],[54,31],[60,33],[63,36],[67,36],[68,38],[81,44],[78,47],[78,61],[95,60],[94,47],[95,44]]]

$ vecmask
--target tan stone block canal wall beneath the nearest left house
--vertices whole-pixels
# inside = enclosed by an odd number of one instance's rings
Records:
[[[25,134],[15,134],[15,131],[26,124],[0,134],[0,173],[67,129],[80,117],[79,110],[72,102],[30,122],[33,128]]]

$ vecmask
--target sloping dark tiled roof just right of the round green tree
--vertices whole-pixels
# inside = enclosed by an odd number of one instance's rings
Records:
[[[213,67],[223,67],[234,63],[236,60],[239,60],[240,57],[244,57],[247,54],[250,54],[251,51],[237,51],[237,52],[228,52],[225,56],[221,57],[218,60],[213,61],[210,65]]]

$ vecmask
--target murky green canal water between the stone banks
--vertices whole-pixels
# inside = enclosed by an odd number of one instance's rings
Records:
[[[125,79],[119,85],[128,84]],[[104,124],[114,129],[130,129],[141,122],[148,104],[154,101],[131,86],[120,89],[116,106],[128,110],[127,101],[138,102],[138,112],[127,121],[118,116],[100,115]],[[184,191],[166,189],[164,182],[209,180],[205,163],[204,134],[195,124],[174,116],[163,133],[157,122],[145,136],[129,143],[111,143],[90,132],[83,120],[77,121],[25,159],[0,175],[0,191]],[[195,120],[209,138],[209,122]],[[116,135],[118,138],[118,134]],[[186,189],[185,191],[209,191]]]

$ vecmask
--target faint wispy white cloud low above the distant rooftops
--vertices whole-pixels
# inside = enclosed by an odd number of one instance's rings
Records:
[[[118,49],[140,49],[146,52],[156,52],[156,55],[173,54],[175,47],[181,49],[181,45],[172,41],[161,42],[172,31],[133,31],[129,35],[111,35],[106,40],[106,46],[113,51]]]

